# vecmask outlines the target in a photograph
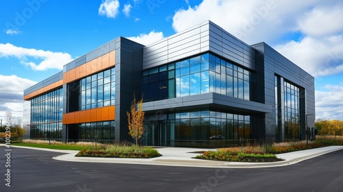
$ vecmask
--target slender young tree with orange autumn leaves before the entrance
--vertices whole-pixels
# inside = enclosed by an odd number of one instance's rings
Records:
[[[128,128],[129,134],[133,139],[136,140],[136,150],[138,146],[138,140],[143,136],[143,120],[145,112],[142,109],[143,106],[143,97],[140,101],[136,102],[136,98],[133,99],[130,107],[130,112],[126,112],[128,115]]]

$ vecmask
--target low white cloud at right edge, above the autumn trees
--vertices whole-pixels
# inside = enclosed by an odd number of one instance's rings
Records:
[[[316,119],[343,120],[343,82],[326,88],[328,92],[316,91]]]

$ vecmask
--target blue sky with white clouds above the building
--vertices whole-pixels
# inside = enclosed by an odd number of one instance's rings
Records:
[[[316,77],[316,119],[343,120],[343,2],[281,0],[1,0],[0,117],[23,90],[123,36],[143,45],[211,20],[264,41]]]

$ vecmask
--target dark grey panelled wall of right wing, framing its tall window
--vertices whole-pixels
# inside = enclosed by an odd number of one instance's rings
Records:
[[[261,130],[261,134],[265,134],[265,139],[272,140],[275,135],[275,93],[274,93],[274,75],[280,75],[288,81],[305,88],[305,111],[301,115],[302,122],[302,139],[305,139],[305,121],[306,115],[308,115],[309,127],[314,127],[315,116],[315,101],[314,101],[314,77],[309,75],[296,64],[287,60],[280,53],[272,49],[265,43],[259,43],[252,45],[256,49],[256,73],[255,73],[255,85],[253,86],[254,97],[253,100],[268,104],[272,106],[273,112],[266,113],[261,117],[254,117],[254,121],[257,122],[257,126],[265,123],[265,133]],[[312,115],[310,115],[312,114]],[[283,115],[282,115],[283,116]],[[283,125],[282,125],[283,126]],[[254,129],[253,129],[254,130]],[[257,129],[259,130],[259,129]]]

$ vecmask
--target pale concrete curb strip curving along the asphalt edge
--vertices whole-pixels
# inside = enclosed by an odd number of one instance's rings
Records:
[[[0,146],[5,146],[4,144],[0,144]],[[307,155],[304,151],[298,152],[289,152],[286,154],[277,154],[278,158],[283,158],[285,160],[272,162],[272,163],[242,163],[242,162],[223,162],[223,161],[215,161],[215,160],[200,160],[194,158],[178,158],[178,157],[171,157],[171,158],[163,158],[163,156],[158,158],[99,158],[99,157],[75,157],[78,151],[75,150],[58,150],[58,149],[45,149],[45,148],[37,148],[37,147],[24,147],[24,146],[16,146],[11,145],[11,147],[18,147],[24,149],[36,149],[36,150],[43,150],[48,152],[60,152],[64,153],[60,156],[54,156],[54,160],[62,160],[62,161],[69,161],[69,162],[80,162],[80,163],[121,163],[121,164],[136,164],[136,165],[159,165],[159,166],[176,166],[176,167],[203,167],[203,168],[263,168],[263,167],[281,167],[287,165],[294,165],[299,163],[303,160],[307,160],[310,158],[315,158],[317,156],[321,156],[324,154],[328,154],[331,152],[338,151],[343,149],[343,146],[329,146],[329,147],[320,147],[316,149],[307,149],[305,152],[309,152]],[[320,150],[320,152],[318,152]],[[296,158],[290,158],[292,154],[299,154],[302,152],[301,156]],[[287,156],[289,159],[287,159]]]

